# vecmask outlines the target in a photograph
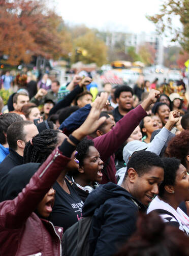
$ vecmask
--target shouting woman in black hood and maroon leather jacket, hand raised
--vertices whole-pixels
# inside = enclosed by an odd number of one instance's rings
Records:
[[[47,219],[53,209],[55,191],[52,185],[61,177],[62,169],[71,168],[76,162],[75,149],[80,140],[105,121],[104,117],[99,119],[99,116],[106,101],[106,95],[102,94],[91,108],[86,121],[69,138],[64,138],[63,143],[60,143],[59,136],[59,147],[56,144],[54,150],[53,146],[44,149],[43,153],[51,153],[43,164],[30,162],[19,165],[3,177],[1,193],[4,201],[0,203],[1,255],[61,256],[62,228],[55,227]],[[29,143],[34,146],[33,139]],[[70,194],[68,196],[71,197]],[[71,207],[77,209],[76,204],[71,204]],[[64,219],[65,215],[61,217]]]

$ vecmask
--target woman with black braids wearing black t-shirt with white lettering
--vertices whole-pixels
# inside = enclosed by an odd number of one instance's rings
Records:
[[[49,129],[39,133],[27,143],[24,149],[24,163],[43,163],[55,147],[61,145],[65,138],[68,138],[67,135],[60,130]],[[101,164],[101,168],[102,166]],[[72,154],[72,161],[65,168],[62,168],[61,174],[53,184],[53,188],[56,190],[56,197],[49,219],[54,225],[62,226],[64,230],[82,217],[82,198],[75,190],[73,181],[67,176],[68,172],[77,172],[78,169],[79,161],[75,151]]]

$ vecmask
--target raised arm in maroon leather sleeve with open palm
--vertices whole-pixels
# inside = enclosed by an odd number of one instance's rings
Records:
[[[104,98],[99,97],[88,118],[72,133],[76,140],[80,141],[105,121],[104,117],[99,119],[105,104],[104,101],[106,102],[106,96]],[[25,222],[56,181],[62,167],[71,160],[70,157],[75,148],[76,145],[72,140],[65,139],[62,145],[56,148],[40,166],[22,192],[14,200],[4,201],[0,204],[0,226],[16,229]]]

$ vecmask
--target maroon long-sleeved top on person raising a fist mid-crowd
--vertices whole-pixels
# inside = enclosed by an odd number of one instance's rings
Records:
[[[106,172],[109,179],[107,175],[102,172],[102,184],[108,183],[109,181],[117,183],[115,178],[116,168],[114,152],[116,152],[122,143],[129,138],[131,133],[146,115],[146,111],[139,105],[120,119],[111,131],[93,139],[94,147],[99,151],[104,164],[108,161]]]

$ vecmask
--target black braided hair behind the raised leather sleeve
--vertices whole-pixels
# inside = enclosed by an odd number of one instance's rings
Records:
[[[43,163],[58,144],[59,130],[48,129],[28,141],[24,148],[23,163]]]

